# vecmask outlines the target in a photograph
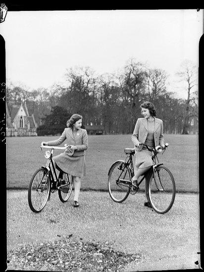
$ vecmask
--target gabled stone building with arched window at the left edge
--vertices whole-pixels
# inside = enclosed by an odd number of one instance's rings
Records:
[[[37,123],[33,114],[29,114],[26,103],[13,106],[8,111],[6,105],[6,134],[7,137],[13,136],[37,136]]]

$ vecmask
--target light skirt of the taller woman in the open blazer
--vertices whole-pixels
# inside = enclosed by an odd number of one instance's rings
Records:
[[[153,165],[152,152],[142,149],[141,151],[135,151],[135,163],[136,168],[145,168]]]

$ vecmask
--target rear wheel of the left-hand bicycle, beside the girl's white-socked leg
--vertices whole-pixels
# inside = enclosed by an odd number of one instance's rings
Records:
[[[59,178],[58,196],[61,202],[66,202],[72,192],[74,177],[67,173],[61,173]]]

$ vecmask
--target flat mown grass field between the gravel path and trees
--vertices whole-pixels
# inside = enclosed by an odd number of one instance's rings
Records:
[[[197,135],[164,135],[169,148],[158,155],[173,173],[179,192],[198,192],[198,139]],[[46,164],[42,141],[52,137],[7,138],[7,188],[28,188],[34,171]],[[86,176],[82,178],[82,190],[107,190],[107,173],[112,163],[124,160],[125,147],[133,147],[131,135],[90,135],[86,152]],[[55,151],[55,155],[60,151]],[[141,184],[141,189],[144,186]]]

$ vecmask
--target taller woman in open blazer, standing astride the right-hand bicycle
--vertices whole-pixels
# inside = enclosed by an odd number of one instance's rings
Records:
[[[153,103],[145,102],[140,107],[144,118],[138,118],[131,137],[135,146],[135,175],[132,178],[132,184],[136,188],[139,176],[147,172],[153,165],[152,152],[144,146],[141,148],[140,144],[143,143],[150,147],[158,145],[164,147],[163,121],[155,118],[156,110]],[[151,204],[146,200],[145,206],[151,207]]]

